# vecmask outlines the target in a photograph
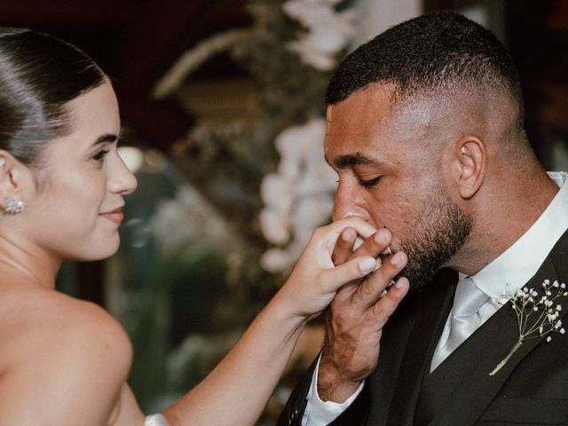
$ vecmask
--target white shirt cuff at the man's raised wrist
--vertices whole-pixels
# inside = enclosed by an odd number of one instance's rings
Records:
[[[321,355],[319,355],[319,359],[321,359]],[[322,401],[318,395],[319,359],[313,371],[312,384],[310,385],[310,390],[308,390],[306,397],[308,398],[308,404],[302,417],[303,425],[326,426],[328,423],[333,422],[339,414],[342,414],[348,406],[351,406],[351,402],[357,398],[365,385],[365,383],[361,383],[359,389],[341,404],[333,401]]]

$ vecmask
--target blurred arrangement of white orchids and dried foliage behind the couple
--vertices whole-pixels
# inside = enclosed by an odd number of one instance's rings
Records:
[[[171,96],[203,63],[228,52],[258,88],[254,120],[198,122],[174,149],[190,181],[247,242],[240,264],[249,280],[241,283],[253,288],[278,285],[264,273],[288,272],[313,229],[330,218],[335,174],[323,157],[324,94],[355,37],[348,3],[253,0],[250,28],[197,44],[154,86],[154,97]]]

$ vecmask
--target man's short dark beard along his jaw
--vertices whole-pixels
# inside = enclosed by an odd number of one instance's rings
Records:
[[[398,276],[406,277],[411,289],[430,282],[467,241],[472,226],[473,219],[440,189],[425,201],[409,236],[400,242],[408,262]]]

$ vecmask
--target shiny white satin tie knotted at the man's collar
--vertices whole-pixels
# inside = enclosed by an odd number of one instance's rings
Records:
[[[432,357],[430,371],[438,367],[450,353],[476,331],[482,322],[479,308],[487,300],[489,296],[477,288],[471,278],[464,277],[458,282],[454,296],[454,308],[450,315],[450,333],[446,343],[438,344],[438,349]]]

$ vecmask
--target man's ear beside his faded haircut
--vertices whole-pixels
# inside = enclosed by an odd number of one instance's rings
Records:
[[[484,141],[473,135],[462,136],[453,149],[454,177],[461,198],[471,198],[483,184],[487,150]]]

